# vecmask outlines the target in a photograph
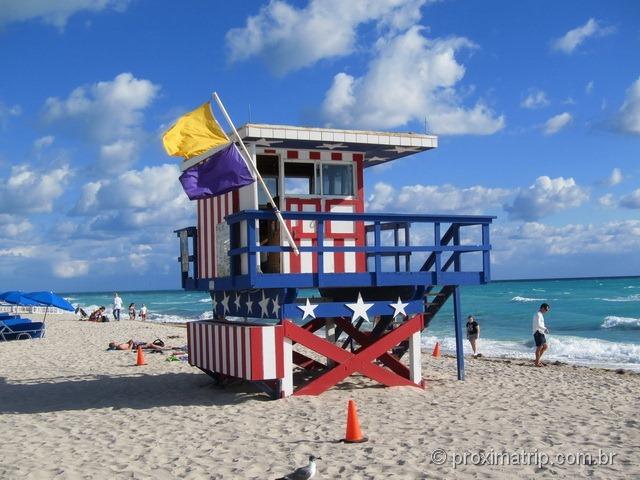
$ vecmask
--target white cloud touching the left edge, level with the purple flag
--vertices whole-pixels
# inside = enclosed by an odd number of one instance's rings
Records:
[[[66,165],[49,172],[28,165],[12,167],[8,178],[0,178],[0,213],[50,212],[70,177]]]

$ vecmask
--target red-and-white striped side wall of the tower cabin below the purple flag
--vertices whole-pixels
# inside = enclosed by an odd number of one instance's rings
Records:
[[[198,220],[198,278],[216,276],[216,227],[224,217],[238,212],[239,192],[196,200]]]

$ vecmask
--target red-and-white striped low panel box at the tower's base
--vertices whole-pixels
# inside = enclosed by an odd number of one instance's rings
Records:
[[[284,377],[282,326],[187,324],[189,364],[246,380]]]

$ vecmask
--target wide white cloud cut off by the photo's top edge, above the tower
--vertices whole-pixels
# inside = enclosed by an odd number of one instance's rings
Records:
[[[259,57],[275,73],[347,55],[356,48],[360,25],[376,22],[390,31],[419,21],[426,0],[311,0],[304,8],[272,0],[243,28],[226,35],[232,61]]]

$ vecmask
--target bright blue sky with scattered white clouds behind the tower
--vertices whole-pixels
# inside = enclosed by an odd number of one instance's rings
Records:
[[[495,278],[640,274],[640,5],[0,0],[0,290],[179,286],[160,135],[249,121],[439,135],[370,211],[487,213]]]

